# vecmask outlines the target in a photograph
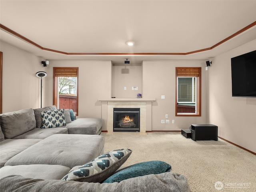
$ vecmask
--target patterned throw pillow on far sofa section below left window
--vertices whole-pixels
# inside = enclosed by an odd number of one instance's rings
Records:
[[[64,109],[56,109],[41,112],[42,129],[65,126]]]

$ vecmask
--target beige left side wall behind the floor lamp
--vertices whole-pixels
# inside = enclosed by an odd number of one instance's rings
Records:
[[[3,52],[3,113],[24,108],[40,108],[41,80],[35,76],[42,67],[41,58],[0,42]],[[43,78],[43,94],[49,87]],[[43,96],[43,105],[45,102]]]

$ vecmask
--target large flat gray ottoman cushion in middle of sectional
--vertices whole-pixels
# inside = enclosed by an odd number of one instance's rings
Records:
[[[54,134],[12,157],[6,165],[49,164],[74,167],[98,157],[104,150],[100,135]]]

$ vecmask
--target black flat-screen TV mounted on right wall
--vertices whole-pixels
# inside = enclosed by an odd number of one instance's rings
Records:
[[[256,50],[231,58],[232,96],[256,97]]]

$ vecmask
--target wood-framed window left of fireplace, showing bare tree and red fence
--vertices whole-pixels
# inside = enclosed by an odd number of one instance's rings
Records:
[[[53,84],[53,104],[78,115],[78,67],[54,67]]]

